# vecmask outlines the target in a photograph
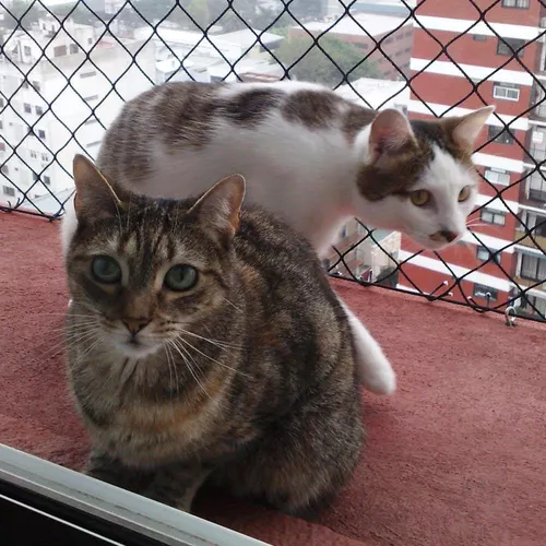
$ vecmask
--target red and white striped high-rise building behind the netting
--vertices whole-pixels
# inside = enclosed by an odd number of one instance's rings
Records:
[[[467,0],[419,2],[411,60],[415,79],[408,112],[413,118],[430,116],[423,104],[425,102],[437,115],[441,115],[451,105],[464,99],[450,112],[464,115],[485,102],[495,104],[497,114],[510,123],[512,133],[523,146],[502,132],[496,141],[475,154],[480,173],[494,186],[480,185],[479,204],[487,203],[487,207],[474,215],[480,217],[483,224],[474,228],[483,245],[470,235],[465,238],[467,246],[458,245],[442,251],[441,256],[460,277],[483,263],[489,250],[503,249],[498,254],[501,268],[517,277],[521,285],[529,286],[538,280],[546,280],[546,257],[529,239],[522,239],[519,222],[510,211],[519,214],[530,226],[546,221],[546,182],[541,173],[530,174],[535,165],[524,151],[530,150],[536,162],[546,158],[546,102],[532,108],[537,99],[544,97],[535,79],[546,83],[545,44],[541,37],[546,10],[536,0],[476,0],[475,3],[482,12],[486,12],[488,24],[476,23],[479,14]],[[524,67],[515,59],[509,60],[511,50],[488,25],[515,49],[530,43],[520,54]],[[447,46],[447,54],[442,52],[442,45]],[[473,82],[483,82],[477,93],[473,93]],[[477,146],[500,130],[500,121],[491,116]],[[543,168],[546,170],[546,166]],[[522,178],[521,183],[515,183]],[[514,186],[507,188],[511,183]],[[494,199],[496,190],[505,190],[502,198],[506,204],[500,199]],[[535,232],[535,238],[546,248],[546,224],[543,228]],[[518,244],[512,245],[513,241]],[[403,238],[400,258],[405,260],[417,250],[414,242]],[[427,293],[452,278],[449,269],[430,252],[411,259],[404,271]],[[413,289],[404,275],[400,276],[399,283],[403,288]],[[486,294],[495,302],[505,300],[515,290],[513,283],[492,262],[471,273],[462,286],[465,296],[473,297],[480,305],[486,304]],[[529,294],[532,302],[546,311],[546,286],[542,285]],[[460,290],[454,290],[453,297],[463,299]],[[518,305],[531,312],[524,299]]]

